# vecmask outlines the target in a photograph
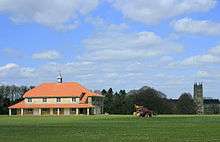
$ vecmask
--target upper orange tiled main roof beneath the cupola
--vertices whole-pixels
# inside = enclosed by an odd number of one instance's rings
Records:
[[[102,96],[93,92],[76,82],[66,83],[43,83],[28,92],[23,98],[27,97],[80,97],[82,93],[86,96]]]

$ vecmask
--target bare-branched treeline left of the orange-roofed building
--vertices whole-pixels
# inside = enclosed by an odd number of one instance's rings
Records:
[[[22,96],[34,86],[0,86],[0,114],[8,114],[8,106],[22,99]]]

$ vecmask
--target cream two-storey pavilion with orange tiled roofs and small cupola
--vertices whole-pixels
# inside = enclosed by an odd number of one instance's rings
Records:
[[[76,82],[65,82],[61,75],[57,83],[43,83],[23,96],[24,100],[9,107],[17,115],[78,115],[101,114],[103,96],[89,91]]]

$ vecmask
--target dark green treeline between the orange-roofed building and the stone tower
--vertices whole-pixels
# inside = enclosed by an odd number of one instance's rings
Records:
[[[157,114],[196,113],[196,105],[189,93],[183,93],[177,100],[167,99],[163,93],[150,87],[128,93],[125,90],[113,92],[110,88],[101,93],[105,96],[104,112],[109,114],[132,114],[135,111],[134,105],[142,105]]]

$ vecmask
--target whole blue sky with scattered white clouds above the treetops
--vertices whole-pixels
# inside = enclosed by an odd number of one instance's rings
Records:
[[[220,98],[218,0],[0,0],[0,84]]]

